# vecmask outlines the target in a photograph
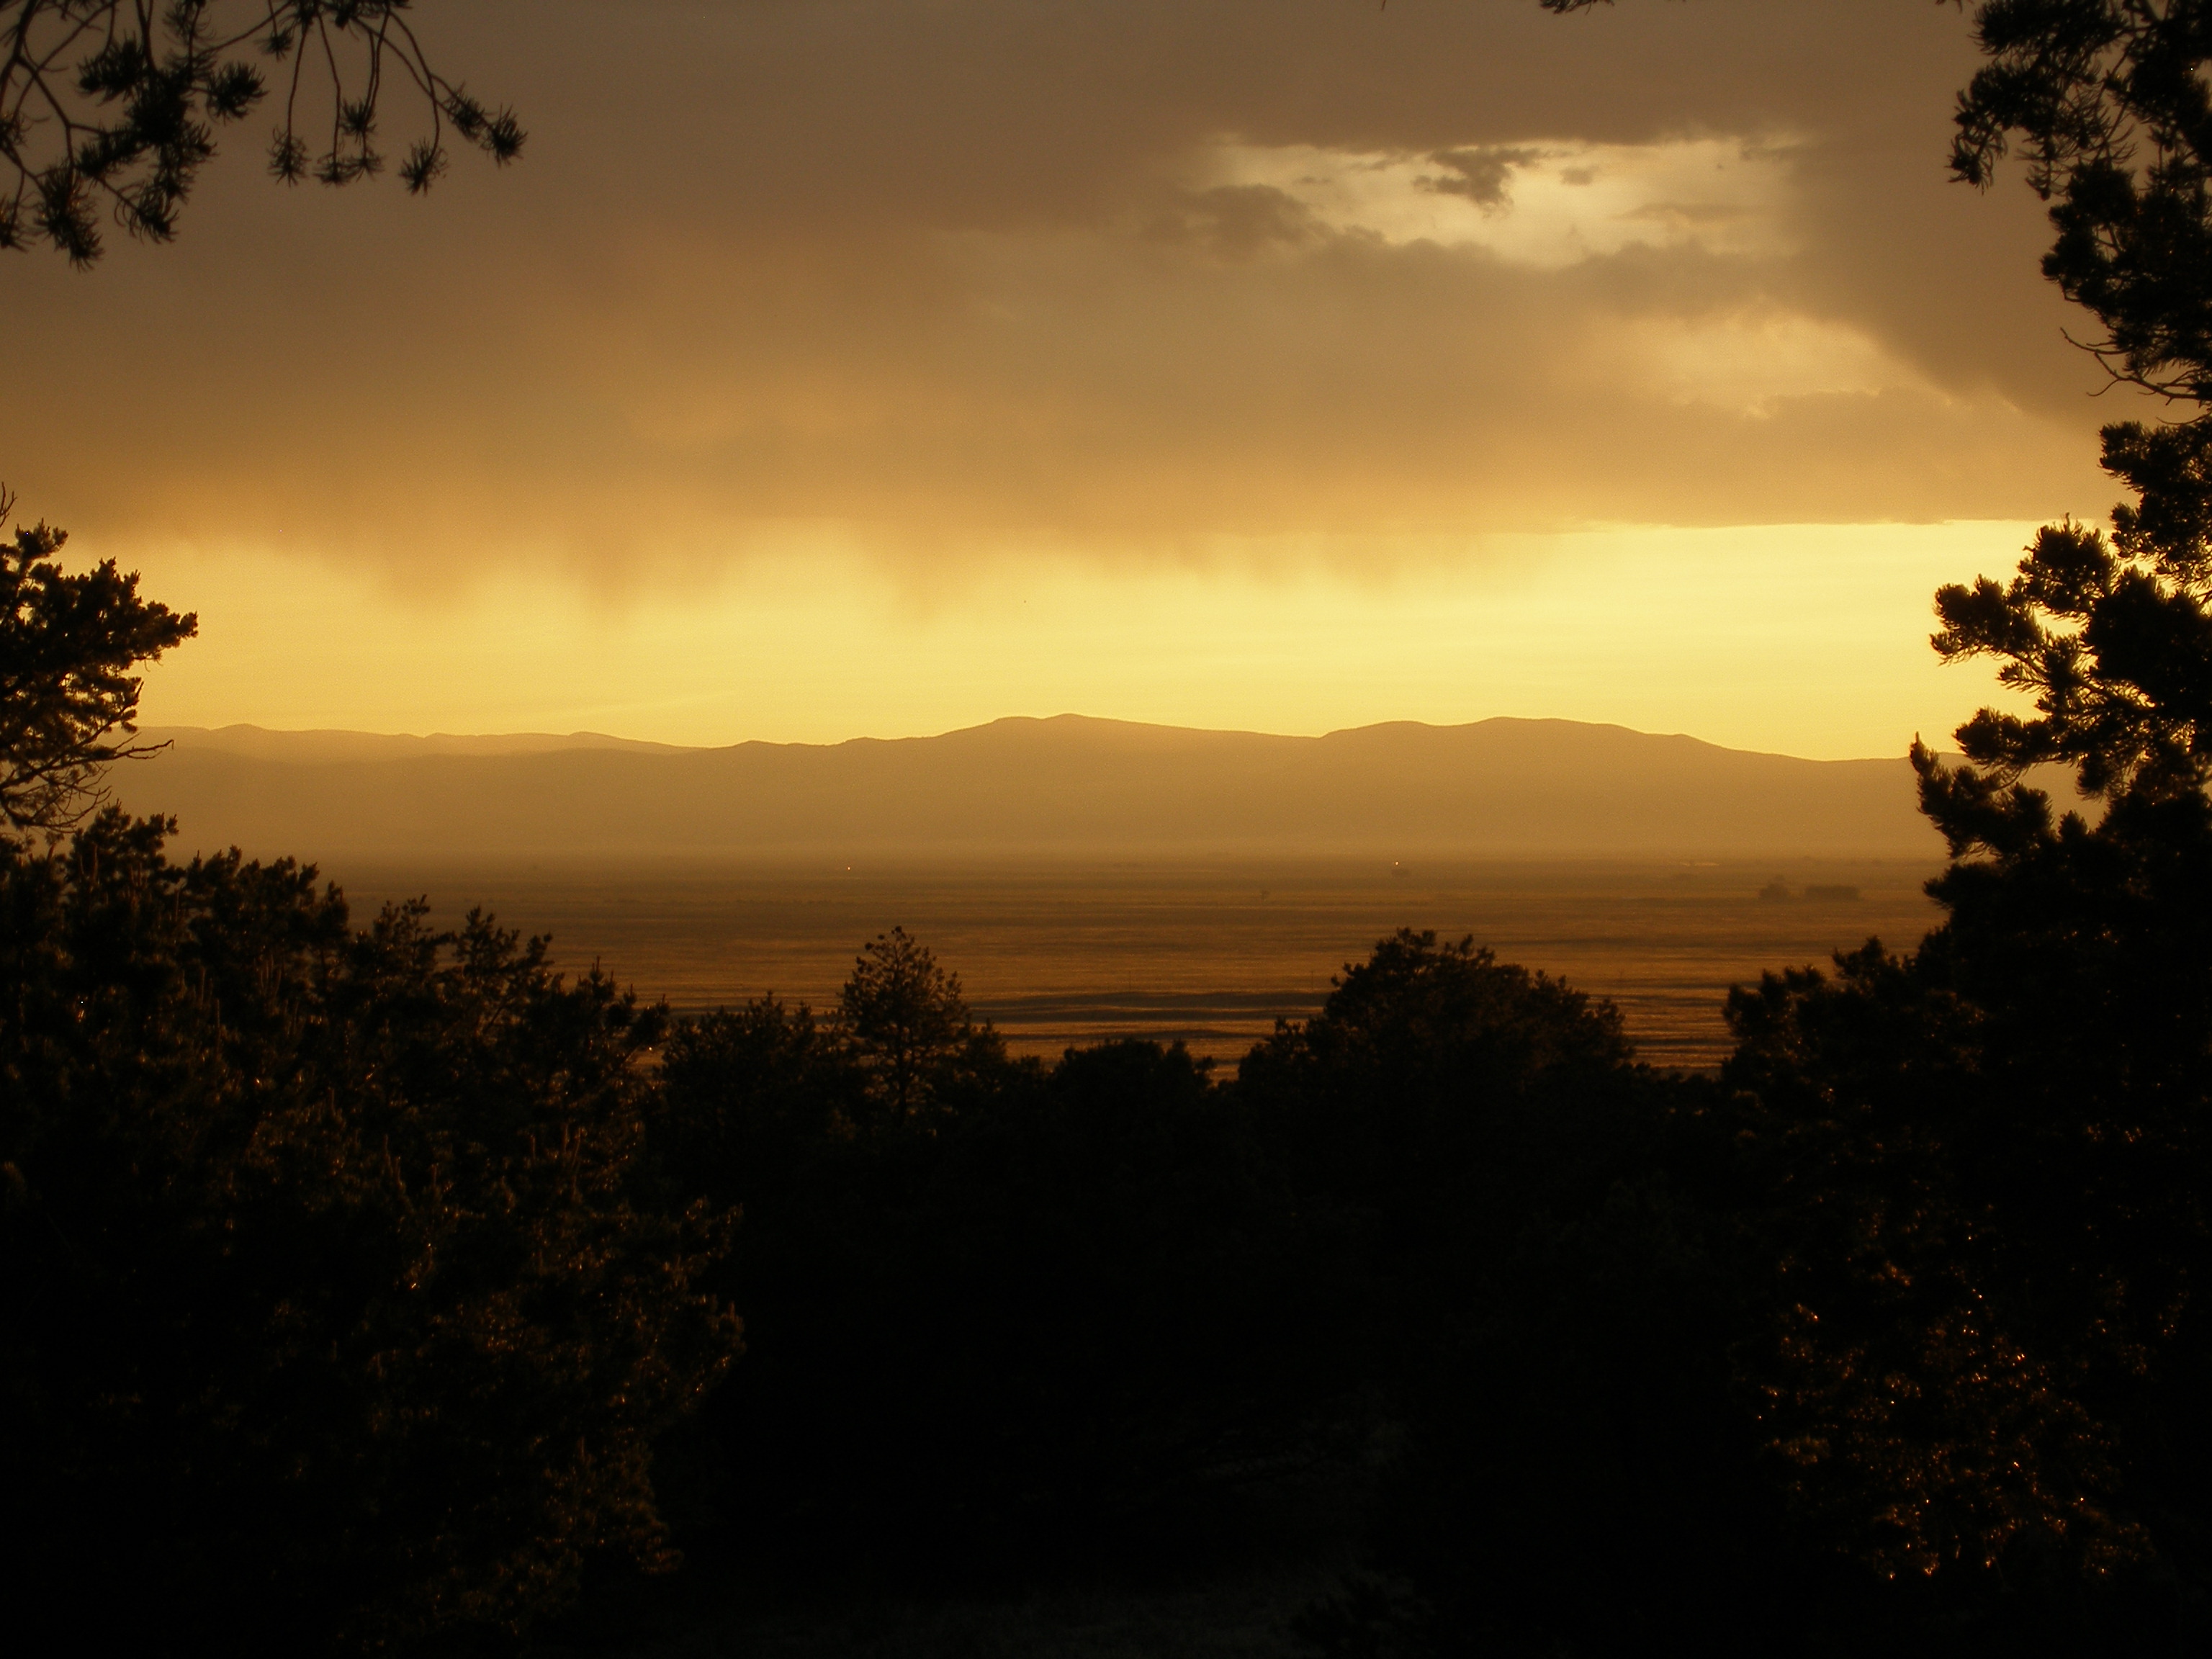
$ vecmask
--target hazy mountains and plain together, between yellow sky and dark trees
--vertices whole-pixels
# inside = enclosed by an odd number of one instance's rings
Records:
[[[681,1013],[827,1006],[902,925],[1029,1053],[1234,1062],[1398,927],[1471,933],[1712,1064],[1721,995],[1918,938],[1942,843],[1896,761],[1493,719],[1327,737],[1082,717],[721,750],[599,734],[148,730],[179,847],[316,847],[356,905],[487,905]]]

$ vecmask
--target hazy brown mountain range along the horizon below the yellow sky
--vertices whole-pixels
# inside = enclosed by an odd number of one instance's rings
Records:
[[[1893,761],[1621,726],[1398,721],[1327,737],[1002,719],[942,737],[675,748],[157,728],[115,768],[181,849],[305,858],[1376,854],[1938,858]]]

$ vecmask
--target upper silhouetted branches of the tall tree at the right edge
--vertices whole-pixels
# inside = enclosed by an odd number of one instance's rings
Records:
[[[2203,0],[1989,0],[1984,66],[1960,95],[1953,173],[1989,186],[2008,153],[2051,204],[2044,274],[2099,325],[2086,345],[2177,420],[2115,422],[2104,465],[2132,502],[2110,540],[2046,526],[2011,584],[1936,595],[1944,657],[1986,655],[2037,714],[1982,710],[1975,770],[1916,757],[1953,849],[2051,834],[2024,787],[2073,765],[2101,801],[2201,796],[2212,779],[2212,7]]]

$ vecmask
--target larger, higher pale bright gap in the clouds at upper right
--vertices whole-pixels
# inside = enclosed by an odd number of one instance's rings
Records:
[[[1531,142],[1427,155],[1219,144],[1201,186],[1281,190],[1332,230],[1489,248],[1555,270],[1624,248],[1787,252],[1790,146]]]

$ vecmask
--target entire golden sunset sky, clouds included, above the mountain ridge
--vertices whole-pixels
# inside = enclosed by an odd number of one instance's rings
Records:
[[[2101,520],[1929,0],[422,0],[531,139],[0,259],[0,478],[201,615],[148,723],[1557,714],[1893,754]],[[416,111],[387,108],[400,148]],[[2077,330],[2079,332],[2079,325]]]

